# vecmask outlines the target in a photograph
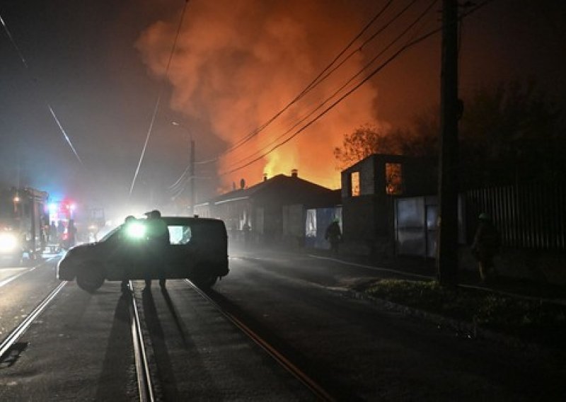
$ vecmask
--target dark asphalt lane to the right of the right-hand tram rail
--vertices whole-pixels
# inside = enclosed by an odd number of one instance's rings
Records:
[[[347,296],[347,286],[379,272],[308,255],[232,254],[231,273],[214,288],[216,297],[254,322],[258,332],[339,399],[566,396],[564,362],[468,338]]]

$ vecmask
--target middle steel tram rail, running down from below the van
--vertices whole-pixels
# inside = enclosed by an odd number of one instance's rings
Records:
[[[134,359],[136,361],[137,388],[139,392],[139,400],[141,402],[154,402],[154,386],[151,382],[151,374],[149,372],[149,360],[147,358],[146,348],[144,344],[144,336],[141,333],[141,322],[137,311],[136,298],[134,297],[134,284],[129,281],[130,296],[132,303],[129,305],[129,314],[132,328],[132,341],[134,345]]]

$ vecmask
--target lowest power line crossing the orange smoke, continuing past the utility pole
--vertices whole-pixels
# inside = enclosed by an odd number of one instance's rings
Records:
[[[483,3],[478,4],[478,6],[475,6],[474,8],[471,8],[469,11],[462,13],[461,16],[458,19],[462,19],[465,18],[466,16],[469,16],[471,13],[474,13],[475,11],[478,11],[480,8],[483,8],[484,6],[486,6],[487,4],[489,4],[491,1],[493,0],[485,0],[483,1]],[[436,0],[434,1],[436,2]],[[433,3],[434,4],[434,3]],[[347,98],[348,96],[350,96],[352,93],[354,93],[354,91],[357,91],[357,89],[362,86],[363,84],[365,84],[367,81],[369,81],[369,79],[371,79],[371,77],[373,77],[375,74],[377,74],[379,71],[381,71],[384,67],[386,67],[389,63],[393,62],[394,59],[396,59],[401,53],[405,52],[405,50],[408,50],[410,47],[417,45],[418,43],[422,42],[423,40],[426,40],[427,38],[431,37],[432,35],[439,33],[439,31],[442,29],[442,27],[439,28],[435,28],[434,30],[430,30],[428,33],[420,36],[420,38],[417,38],[415,40],[412,40],[410,42],[408,42],[407,44],[405,44],[403,47],[401,47],[397,52],[395,52],[391,57],[389,57],[385,62],[383,62],[381,65],[379,65],[379,67],[376,67],[376,69],[374,69],[373,71],[371,71],[371,73],[366,76],[362,81],[359,82],[359,84],[357,84],[356,86],[354,86],[354,88],[350,89],[350,91],[347,91],[347,93],[345,93],[344,95],[342,95],[340,98],[337,99],[337,101],[335,101],[334,103],[332,103],[330,106],[328,106],[328,108],[325,108],[325,110],[323,110],[321,113],[319,113],[318,115],[316,115],[316,117],[314,117],[312,120],[310,120],[308,123],[306,123],[306,125],[304,125],[303,127],[301,127],[299,130],[296,130],[296,132],[294,132],[289,138],[285,139],[284,141],[280,142],[279,144],[275,145],[274,147],[272,147],[269,151],[264,152],[263,154],[261,154],[260,156],[256,157],[255,159],[253,159],[252,161],[239,166],[238,168],[233,168],[230,171],[225,171],[222,173],[219,173],[220,176],[224,176],[227,175],[229,173],[234,173],[236,171],[239,171],[243,168],[246,168],[247,166],[250,166],[251,164],[260,161],[260,159],[262,159],[263,157],[265,157],[267,154],[270,154],[272,151],[275,151],[275,149],[278,149],[279,147],[282,147],[284,144],[287,144],[287,142],[291,141],[291,139],[293,139],[294,137],[296,137],[297,135],[299,135],[301,132],[303,132],[304,130],[306,130],[308,127],[310,127],[311,125],[313,125],[314,122],[318,121],[320,119],[320,117],[323,117],[323,115],[325,115],[326,113],[328,113],[330,110],[332,110],[333,108],[335,108],[336,105],[338,105],[338,103],[342,102],[345,98]]]

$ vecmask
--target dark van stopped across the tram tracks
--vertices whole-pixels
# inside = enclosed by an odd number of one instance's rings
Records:
[[[88,292],[105,280],[187,278],[207,288],[228,275],[228,236],[219,219],[161,217],[169,244],[151,246],[144,237],[146,219],[122,224],[96,243],[71,248],[57,265],[59,280],[75,280]]]

